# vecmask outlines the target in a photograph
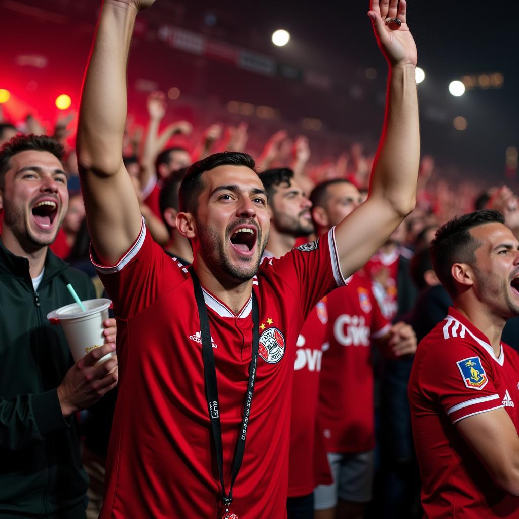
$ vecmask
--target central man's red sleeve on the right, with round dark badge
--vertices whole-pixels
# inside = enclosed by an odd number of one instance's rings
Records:
[[[340,271],[335,244],[335,227],[316,241],[292,249],[283,257],[265,258],[265,275],[276,275],[301,302],[303,318],[331,290],[346,284]]]

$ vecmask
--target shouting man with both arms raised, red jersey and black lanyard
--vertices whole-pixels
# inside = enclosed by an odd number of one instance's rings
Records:
[[[416,47],[406,2],[373,0],[368,12],[389,64],[368,200],[317,242],[259,267],[269,214],[254,160],[207,157],[180,188],[176,227],[192,243],[189,269],[149,238],[121,159],[131,34],[152,3],[105,0],[77,134],[92,257],[119,320],[101,518],[285,517],[299,330],[415,203]]]

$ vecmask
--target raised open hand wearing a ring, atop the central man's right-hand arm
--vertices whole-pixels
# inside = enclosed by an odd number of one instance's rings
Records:
[[[371,0],[367,15],[373,22],[378,46],[391,65],[416,66],[416,45],[406,21],[407,2]],[[400,20],[400,26],[393,20]]]

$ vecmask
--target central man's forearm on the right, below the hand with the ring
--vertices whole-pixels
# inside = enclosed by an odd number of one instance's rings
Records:
[[[370,185],[405,216],[414,208],[420,139],[415,67],[394,66],[388,80],[387,107]]]

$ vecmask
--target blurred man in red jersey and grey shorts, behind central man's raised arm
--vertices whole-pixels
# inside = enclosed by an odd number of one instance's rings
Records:
[[[318,234],[327,233],[361,203],[344,179],[317,185],[310,199]],[[414,353],[411,326],[391,325],[378,306],[371,278],[361,268],[347,286],[327,296],[327,350],[322,357],[319,424],[333,483],[314,493],[316,519],[358,519],[372,499],[375,424],[372,344],[391,357]]]

